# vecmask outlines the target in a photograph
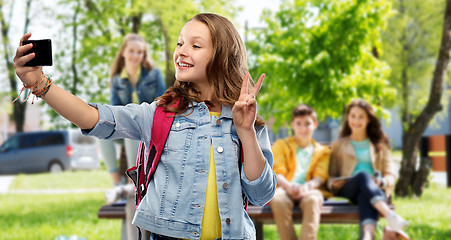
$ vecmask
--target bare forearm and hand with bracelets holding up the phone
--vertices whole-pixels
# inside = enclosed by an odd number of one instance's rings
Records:
[[[42,73],[42,67],[26,67],[25,63],[35,57],[35,53],[24,54],[29,51],[33,45],[22,46],[24,40],[28,40],[31,33],[25,34],[20,40],[14,57],[14,68],[17,76],[24,86],[32,87],[33,93],[39,93],[47,85],[47,81],[41,81],[45,78]],[[92,129],[99,121],[99,112],[96,108],[89,106],[80,98],[52,84],[46,93],[40,96],[50,107],[58,114],[71,121],[81,129]]]

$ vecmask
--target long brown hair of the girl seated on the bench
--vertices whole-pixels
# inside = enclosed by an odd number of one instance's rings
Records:
[[[390,141],[388,140],[387,135],[385,135],[385,133],[382,131],[381,123],[374,114],[373,107],[363,99],[355,99],[348,105],[346,110],[346,118],[340,132],[340,137],[351,135],[352,131],[349,127],[348,115],[351,111],[351,108],[353,107],[359,107],[366,112],[369,120],[368,125],[366,126],[366,134],[368,135],[371,143],[373,143],[377,149],[379,149],[380,144],[386,144],[387,146],[390,146]]]

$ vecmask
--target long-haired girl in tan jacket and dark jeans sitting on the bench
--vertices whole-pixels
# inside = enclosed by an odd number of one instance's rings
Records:
[[[347,107],[339,139],[332,145],[329,176],[332,193],[359,206],[360,239],[374,239],[379,215],[387,219],[387,234],[408,238],[402,231],[407,221],[387,205],[395,185],[390,143],[363,99]]]

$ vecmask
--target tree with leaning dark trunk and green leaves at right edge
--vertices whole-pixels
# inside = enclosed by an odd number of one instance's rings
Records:
[[[398,18],[393,21],[401,23],[398,39],[402,47],[399,54],[402,57],[395,62],[401,68],[400,74],[394,75],[393,78],[399,78],[403,84],[404,131],[400,177],[395,192],[402,197],[409,196],[410,193],[421,196],[430,171],[430,163],[427,158],[421,158],[420,167],[417,169],[418,143],[432,118],[443,109],[442,96],[451,50],[451,0],[446,1],[445,8],[444,2],[441,1],[432,4],[412,1],[407,4],[400,0],[398,3]],[[419,7],[425,11],[418,11]],[[438,28],[440,25],[436,24],[441,24],[441,29]],[[438,49],[437,56],[433,48]],[[409,96],[415,87],[424,88],[429,84],[429,94],[418,96],[427,102],[421,103]],[[415,105],[418,107],[414,107]]]

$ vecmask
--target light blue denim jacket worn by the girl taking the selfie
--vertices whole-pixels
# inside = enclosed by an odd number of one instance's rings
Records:
[[[85,134],[108,139],[137,139],[149,149],[155,102],[94,106],[99,110],[100,120],[92,130],[83,130]],[[238,169],[240,142],[232,109],[223,106],[221,116],[213,116],[211,120],[203,102],[194,103],[186,113],[191,111],[188,116],[175,117],[133,224],[165,236],[200,239],[212,144],[222,239],[255,239],[255,228],[244,209],[242,192],[252,204],[260,206],[274,195],[276,175],[272,170],[273,155],[267,129],[255,127],[266,165],[258,179],[249,181],[244,169],[241,173]]]

